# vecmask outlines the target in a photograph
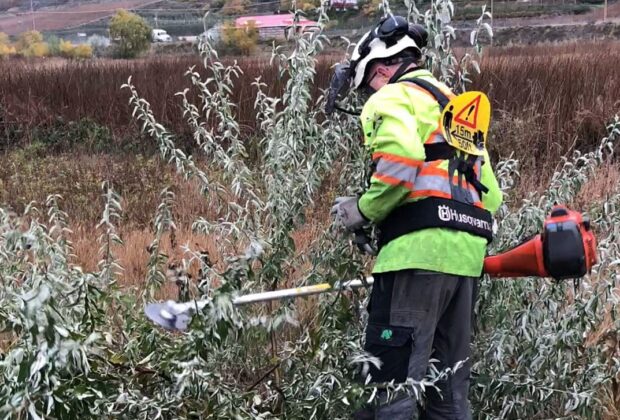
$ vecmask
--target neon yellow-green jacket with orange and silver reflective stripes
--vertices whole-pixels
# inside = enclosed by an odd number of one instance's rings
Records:
[[[402,79],[419,77],[433,83],[447,96],[450,90],[427,70],[415,70]],[[444,141],[439,127],[440,106],[426,90],[399,82],[373,94],[361,114],[365,144],[372,153],[375,172],[358,206],[374,223],[383,221],[396,207],[427,197],[452,198],[448,160],[424,162],[424,143]],[[491,213],[499,208],[502,193],[493,174],[488,153],[476,174],[488,189],[478,195],[465,181],[464,192],[474,205]],[[461,180],[462,181],[462,180]],[[456,177],[453,184],[456,183]],[[383,246],[373,273],[424,269],[460,276],[479,276],[486,254],[486,240],[447,228],[430,228],[408,233]]]

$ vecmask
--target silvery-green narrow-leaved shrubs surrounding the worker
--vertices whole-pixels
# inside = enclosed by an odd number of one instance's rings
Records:
[[[457,58],[450,46],[451,1],[434,0],[423,14],[411,1],[405,6],[429,30],[429,66],[455,90],[464,90],[468,69],[478,68],[478,35],[491,35],[487,14],[483,10],[471,34],[475,51]],[[387,2],[383,7],[389,8]],[[323,27],[325,5],[319,14]],[[290,48],[273,51],[285,84],[279,97],[269,96],[260,79],[245,80],[236,63],[223,64],[208,39],[201,43],[203,68],[188,70],[189,87],[178,94],[201,151],[197,158],[176,147],[174,134],[157,122],[131,79],[124,86],[133,115],[162,159],[200,188],[217,215],[198,217],[193,229],[215,238],[226,269],[211,268],[190,246],[181,263],[202,264],[199,284],[185,284],[183,293],[207,300],[187,332],[162,331],[142,313],[166,281],[161,240],[176,228],[175,196],[167,188],[154,209],[143,297],[116,285],[123,275],[115,255],[122,209],[107,183],[100,236],[93,243],[101,260],[91,273],[71,262],[71,232],[60,197],[19,215],[0,209],[0,418],[336,419],[376,398],[376,387],[356,381],[360,370],[376,362],[361,350],[363,291],[325,295],[305,305],[232,304],[238,294],[333,283],[359,277],[366,268],[350,238],[335,227],[311,232],[303,252],[296,249],[294,234],[319,211],[318,201],[363,189],[366,154],[358,122],[325,118],[323,98],[311,96],[317,54],[328,40],[322,31],[291,38]],[[259,129],[249,139],[241,134],[231,100],[236,83],[251,83],[256,92]],[[619,135],[616,118],[600,148],[566,157],[548,188],[523,200],[510,192],[518,162],[498,163],[507,202],[498,214],[493,251],[537,232],[554,203],[570,203],[599,176]],[[325,188],[330,183],[337,191]],[[482,282],[471,390],[477,418],[609,414],[619,368],[619,201],[616,191],[580,209],[599,234],[601,262],[592,275],[577,283]],[[384,387],[419,395],[449,373]]]

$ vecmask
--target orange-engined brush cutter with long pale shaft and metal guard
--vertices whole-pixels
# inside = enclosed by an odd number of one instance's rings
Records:
[[[484,273],[491,277],[553,277],[557,280],[583,277],[596,264],[596,238],[590,221],[564,206],[555,206],[545,220],[543,232],[515,248],[484,259]],[[358,287],[369,287],[373,278],[329,283],[271,292],[252,293],[233,299],[236,306],[300,296],[316,295]],[[146,305],[146,316],[168,330],[185,330],[191,317],[208,300]]]

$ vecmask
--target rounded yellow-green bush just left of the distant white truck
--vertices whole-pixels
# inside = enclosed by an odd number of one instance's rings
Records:
[[[110,37],[117,57],[135,58],[149,49],[151,27],[140,16],[119,10],[110,20]]]

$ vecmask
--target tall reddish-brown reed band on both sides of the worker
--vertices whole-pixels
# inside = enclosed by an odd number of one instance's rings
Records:
[[[268,59],[240,60],[244,75],[233,100],[243,131],[251,137],[255,89],[250,83],[261,77],[268,92],[278,94],[284,81]],[[329,67],[336,60],[321,58],[315,96],[327,86]],[[492,151],[496,156],[518,152],[529,166],[540,168],[549,167],[571,147],[591,147],[620,108],[619,60],[620,43],[612,41],[490,49],[473,88],[487,92],[492,100]],[[139,137],[127,93],[119,89],[132,75],[158,119],[179,134],[184,147],[191,147],[191,133],[174,93],[188,85],[184,71],[199,66],[195,56],[41,63],[47,62],[0,62],[0,132],[9,144],[30,143],[42,127],[59,119],[88,118],[111,130],[110,150],[122,149],[128,139]]]

